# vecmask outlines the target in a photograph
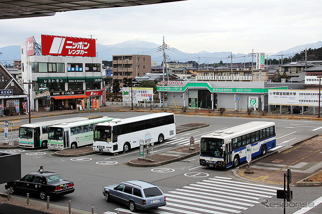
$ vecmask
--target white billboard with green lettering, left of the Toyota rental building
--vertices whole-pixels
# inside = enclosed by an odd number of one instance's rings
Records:
[[[129,87],[123,87],[123,102],[132,102],[132,92]],[[133,88],[133,102],[153,101],[153,88]]]

